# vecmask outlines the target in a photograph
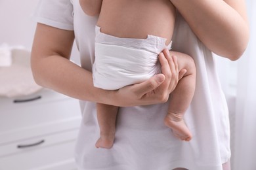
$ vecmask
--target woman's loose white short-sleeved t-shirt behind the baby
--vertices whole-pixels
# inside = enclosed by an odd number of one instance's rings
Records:
[[[41,0],[34,18],[43,24],[74,30],[81,66],[91,71],[97,18],[84,14],[78,0]],[[99,137],[95,103],[81,101],[83,119],[75,148],[78,169],[221,170],[222,163],[230,159],[228,109],[213,56],[180,15],[175,24],[173,50],[189,54],[196,63],[196,92],[184,117],[192,140],[177,139],[163,124],[167,102],[120,108],[113,148],[95,148]]]

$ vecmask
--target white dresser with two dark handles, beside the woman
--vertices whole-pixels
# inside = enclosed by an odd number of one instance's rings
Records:
[[[51,90],[0,97],[0,170],[74,170],[79,102]]]

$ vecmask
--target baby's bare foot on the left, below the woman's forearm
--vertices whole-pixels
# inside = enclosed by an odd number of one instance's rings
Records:
[[[112,148],[115,139],[115,133],[100,133],[100,138],[96,141],[96,148]]]

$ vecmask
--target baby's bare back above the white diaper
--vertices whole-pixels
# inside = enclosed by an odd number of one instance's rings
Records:
[[[171,41],[175,8],[169,0],[103,0],[98,26],[116,37],[146,39],[156,35]]]

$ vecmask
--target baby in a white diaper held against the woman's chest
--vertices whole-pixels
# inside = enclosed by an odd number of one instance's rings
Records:
[[[169,0],[79,0],[89,16],[99,14],[96,24],[94,86],[117,90],[161,73],[158,55],[171,49],[175,7]],[[171,93],[164,123],[176,137],[190,141],[192,134],[183,116],[196,86],[194,60],[180,52],[179,71],[186,73]],[[111,148],[116,133],[118,107],[97,103],[100,138],[97,148]]]

